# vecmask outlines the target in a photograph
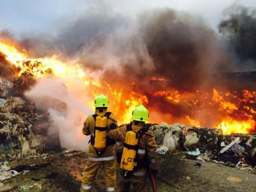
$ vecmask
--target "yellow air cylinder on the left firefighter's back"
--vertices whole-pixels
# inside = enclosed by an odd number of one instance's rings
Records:
[[[105,148],[107,145],[107,139],[106,139],[107,117],[97,116],[95,126],[96,126],[96,130],[95,130],[94,147],[96,148],[96,150],[100,151],[100,150],[103,150],[103,148]]]

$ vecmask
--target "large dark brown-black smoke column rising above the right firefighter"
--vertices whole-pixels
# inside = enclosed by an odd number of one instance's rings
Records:
[[[216,38],[200,18],[172,9],[156,10],[141,18],[143,39],[155,71],[170,78],[178,90],[198,89],[209,76]]]

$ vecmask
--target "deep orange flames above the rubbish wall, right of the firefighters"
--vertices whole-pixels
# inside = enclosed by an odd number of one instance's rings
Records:
[[[157,91],[154,96],[164,97],[171,104],[191,109],[190,114],[176,121],[198,127],[216,127],[221,129],[223,134],[255,131],[255,91],[242,90],[241,93],[231,93],[213,89],[211,93],[199,90],[191,93],[170,90]]]

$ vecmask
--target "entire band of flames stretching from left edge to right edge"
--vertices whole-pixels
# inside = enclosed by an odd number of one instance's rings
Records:
[[[223,134],[249,133],[255,131],[255,97],[256,91],[242,90],[240,92],[197,90],[194,92],[181,92],[167,88],[144,95],[132,90],[136,82],[126,85],[124,89],[115,89],[114,85],[94,79],[87,69],[76,63],[74,65],[61,61],[59,55],[45,58],[29,58],[26,51],[22,50],[14,42],[0,40],[0,54],[20,70],[17,76],[22,73],[32,74],[36,78],[53,76],[57,78],[76,77],[83,87],[81,93],[87,92],[90,96],[88,106],[94,109],[94,97],[101,93],[106,94],[111,101],[109,110],[117,116],[119,123],[127,123],[131,120],[132,110],[139,104],[150,106],[150,97],[160,97],[169,106],[179,106],[181,115],[165,114],[154,111],[153,114],[160,114],[160,121],[182,122],[192,126],[216,127],[221,129]],[[172,79],[151,77],[150,81],[170,82]],[[68,88],[72,85],[65,84]],[[74,85],[74,84],[73,84]],[[87,91],[90,90],[90,91]],[[89,92],[89,93],[88,93]],[[150,97],[148,97],[150,96]],[[169,105],[168,105],[169,104]],[[152,110],[152,109],[151,109]],[[154,116],[150,116],[154,122]]]

